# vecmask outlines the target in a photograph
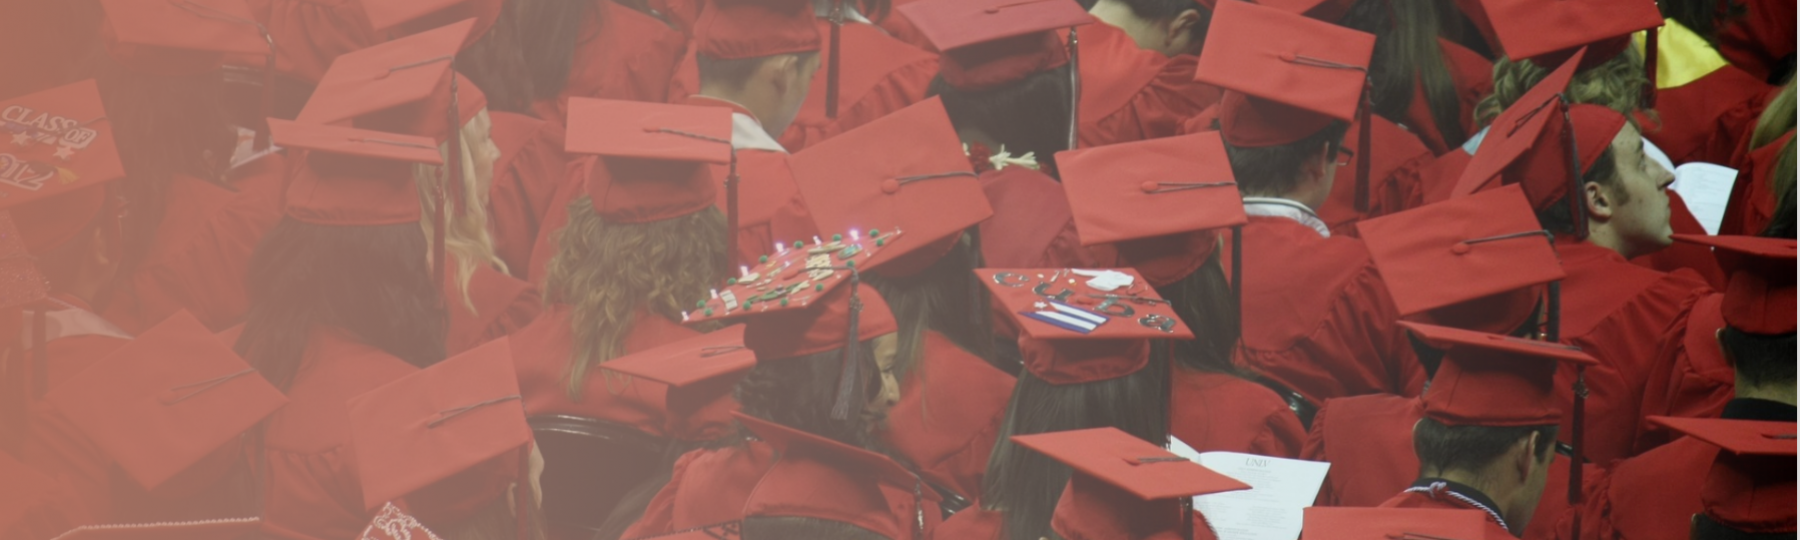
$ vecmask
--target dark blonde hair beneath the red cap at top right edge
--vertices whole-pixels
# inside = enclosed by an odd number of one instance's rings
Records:
[[[1550,68],[1544,68],[1530,59],[1514,61],[1505,56],[1494,59],[1494,94],[1481,97],[1481,103],[1474,106],[1474,121],[1478,126],[1487,126],[1499,117],[1501,110],[1512,106],[1519,101],[1525,92],[1537,86],[1550,76]],[[1613,59],[1607,59],[1597,67],[1575,72],[1570,79],[1570,86],[1562,92],[1570,103],[1588,103],[1598,104],[1625,115],[1627,121],[1636,124],[1633,113],[1643,108],[1643,85],[1649,77],[1643,76],[1643,56],[1636,49],[1625,49]],[[1645,112],[1649,113],[1649,112]]]

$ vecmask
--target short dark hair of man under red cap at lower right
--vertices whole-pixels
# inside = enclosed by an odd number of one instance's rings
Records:
[[[1548,457],[1557,445],[1557,425],[1453,427],[1424,418],[1413,430],[1413,452],[1418,454],[1422,470],[1481,470],[1530,434],[1537,434],[1532,455]]]

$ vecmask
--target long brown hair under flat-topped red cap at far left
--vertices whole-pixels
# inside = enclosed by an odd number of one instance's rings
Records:
[[[250,256],[250,311],[238,355],[279,389],[293,383],[313,329],[428,367],[445,360],[445,308],[418,223],[275,225]]]

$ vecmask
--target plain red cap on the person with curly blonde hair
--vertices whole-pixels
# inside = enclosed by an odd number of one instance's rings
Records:
[[[585,185],[608,223],[688,216],[716,202],[707,164],[729,164],[731,112],[610,99],[569,99],[563,148],[599,155]]]

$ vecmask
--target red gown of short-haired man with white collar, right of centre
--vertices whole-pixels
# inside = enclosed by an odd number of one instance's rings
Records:
[[[1363,241],[1287,218],[1244,225],[1244,346],[1237,364],[1309,403],[1417,396],[1426,373]]]

